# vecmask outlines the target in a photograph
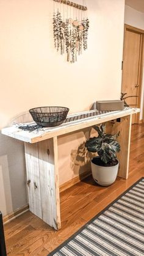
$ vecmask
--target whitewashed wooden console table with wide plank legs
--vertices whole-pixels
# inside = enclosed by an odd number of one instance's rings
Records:
[[[54,229],[60,229],[57,140],[63,134],[70,134],[113,120],[111,125],[109,123],[107,126],[107,131],[110,133],[120,131],[118,140],[121,151],[118,153],[120,160],[118,176],[128,178],[131,120],[132,114],[137,112],[140,112],[140,109],[126,108],[123,111],[112,111],[76,122],[63,123],[54,128],[42,129],[38,133],[35,131],[29,133],[16,126],[2,129],[2,134],[24,141],[30,211]]]

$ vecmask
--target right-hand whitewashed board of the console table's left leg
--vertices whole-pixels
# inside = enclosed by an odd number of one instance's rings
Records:
[[[43,221],[60,229],[57,137],[38,142],[41,208]]]

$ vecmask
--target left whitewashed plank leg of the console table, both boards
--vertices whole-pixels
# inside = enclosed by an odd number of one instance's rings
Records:
[[[60,199],[57,137],[35,144],[25,143],[29,209],[59,230]]]

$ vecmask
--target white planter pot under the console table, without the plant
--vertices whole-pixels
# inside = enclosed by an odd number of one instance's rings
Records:
[[[118,159],[117,159],[118,160]],[[97,166],[96,164],[93,164],[91,161],[92,166],[92,175],[93,179],[101,186],[109,186],[113,182],[115,182],[118,174],[118,166],[119,161],[116,166]]]

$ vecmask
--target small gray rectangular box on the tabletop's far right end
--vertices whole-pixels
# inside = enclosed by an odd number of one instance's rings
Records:
[[[124,109],[123,100],[102,100],[96,102],[98,111],[116,111]]]

